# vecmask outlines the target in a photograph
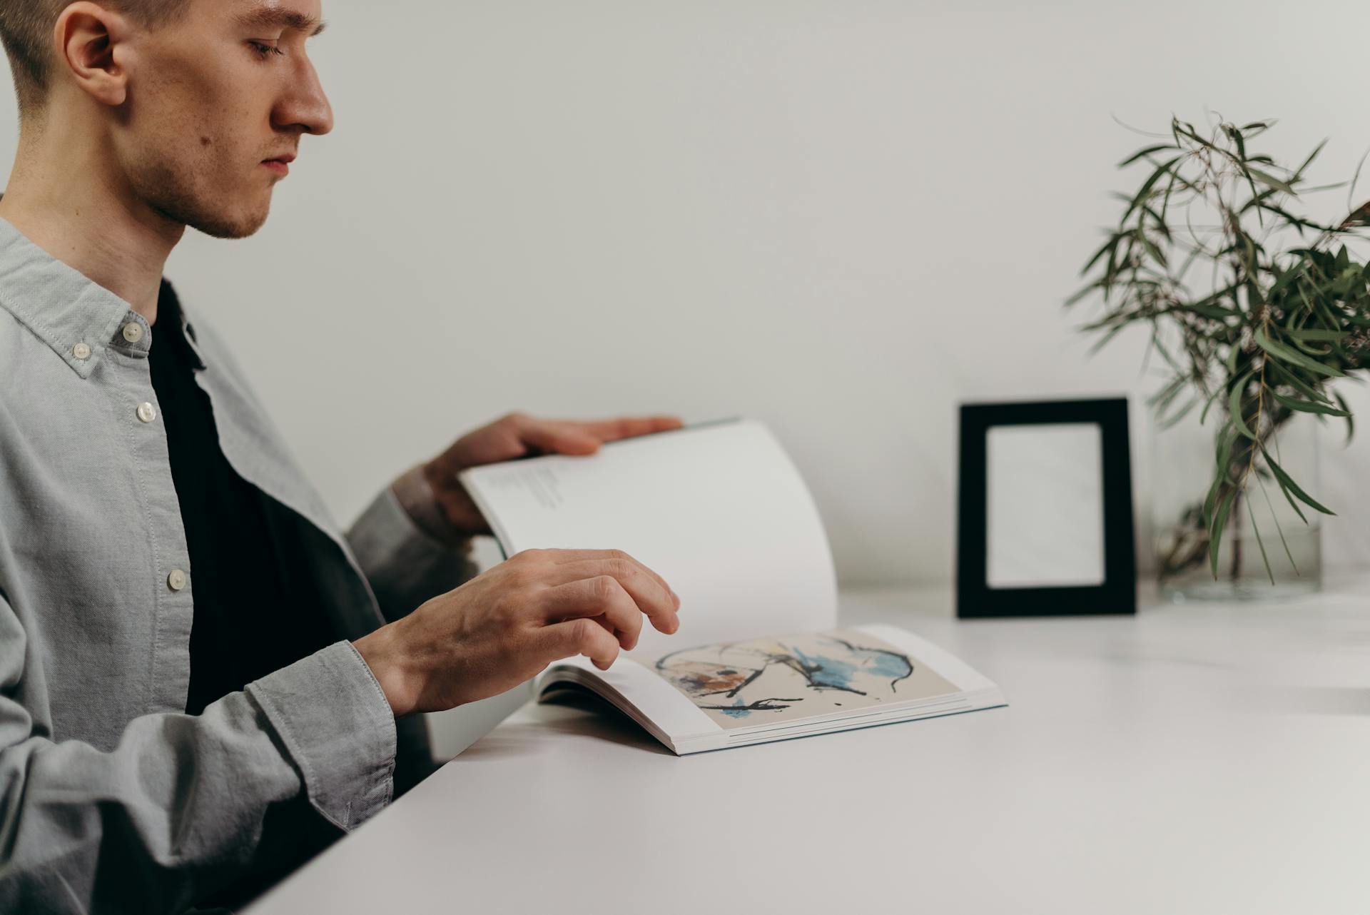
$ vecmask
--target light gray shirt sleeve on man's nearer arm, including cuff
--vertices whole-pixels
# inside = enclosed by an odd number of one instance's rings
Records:
[[[344,830],[390,797],[395,719],[348,642],[200,715],[134,718],[110,751],[34,725],[32,663],[0,596],[0,911],[182,911],[238,878],[301,792]]]

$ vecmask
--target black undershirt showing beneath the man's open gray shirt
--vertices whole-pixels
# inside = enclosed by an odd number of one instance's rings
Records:
[[[297,516],[242,479],[219,449],[210,396],[195,381],[197,360],[166,281],[148,360],[190,553],[195,619],[185,711],[199,715],[337,636]]]

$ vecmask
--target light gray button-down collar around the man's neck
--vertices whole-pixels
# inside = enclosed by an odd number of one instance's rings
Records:
[[[167,297],[175,301],[175,290],[163,279],[158,300],[164,303]],[[82,378],[90,377],[110,348],[147,356],[152,345],[147,321],[127,301],[29,241],[4,218],[0,218],[0,308],[48,344]],[[193,341],[195,330],[185,310],[177,304],[170,311]],[[138,340],[129,340],[123,333],[130,322],[142,330]],[[199,359],[193,344],[192,351]],[[203,360],[200,367],[204,367]]]

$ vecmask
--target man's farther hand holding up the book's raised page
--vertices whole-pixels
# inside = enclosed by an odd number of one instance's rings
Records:
[[[534,419],[527,414],[510,414],[456,440],[451,448],[423,464],[423,478],[462,537],[488,534],[490,526],[471,501],[456,474],[467,467],[514,460],[536,453],[593,455],[606,441],[680,429],[677,416],[623,416],[580,422],[574,419]]]

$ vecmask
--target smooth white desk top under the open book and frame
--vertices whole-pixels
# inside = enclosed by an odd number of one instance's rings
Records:
[[[677,759],[529,705],[275,912],[1366,912],[1370,577],[1285,605],[958,622],[848,592],[1010,707]]]

